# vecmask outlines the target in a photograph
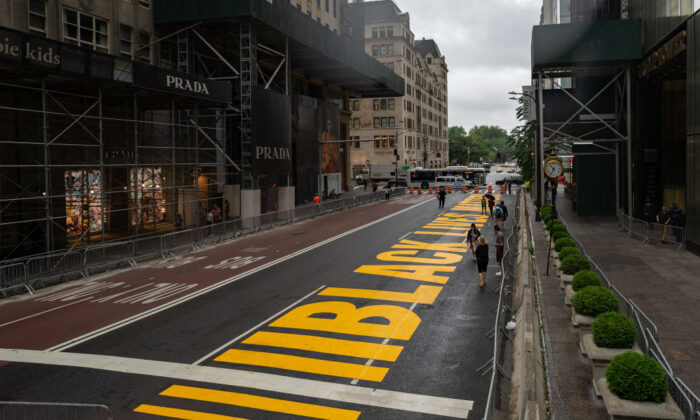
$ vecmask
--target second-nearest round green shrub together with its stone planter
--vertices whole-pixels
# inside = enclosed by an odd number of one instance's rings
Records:
[[[619,312],[604,312],[591,325],[593,334],[581,337],[581,352],[591,359],[593,365],[593,389],[601,396],[598,381],[605,377],[605,367],[610,360],[622,353],[630,351],[641,353],[635,342],[637,328],[634,322],[625,314]]]

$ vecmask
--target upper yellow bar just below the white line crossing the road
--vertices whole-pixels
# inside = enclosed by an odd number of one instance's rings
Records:
[[[161,392],[160,395],[235,405],[256,410],[273,411],[276,413],[311,417],[315,419],[355,420],[361,414],[359,411],[355,410],[344,410],[317,404],[305,404],[277,398],[260,397],[257,395],[241,394],[238,392],[218,391],[214,389],[196,388],[182,385],[173,385]]]

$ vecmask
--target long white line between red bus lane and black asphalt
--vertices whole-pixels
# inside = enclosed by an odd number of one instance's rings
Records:
[[[349,231],[347,231],[347,232],[341,233],[340,235],[336,235],[336,236],[334,236],[334,237],[332,237],[332,238],[328,238],[328,239],[326,239],[326,240],[324,240],[324,241],[315,243],[315,244],[313,244],[313,245],[311,245],[311,246],[308,246],[308,247],[306,247],[306,248],[304,248],[304,249],[301,249],[301,250],[299,250],[299,251],[293,252],[293,253],[291,253],[291,254],[289,254],[289,255],[286,255],[286,256],[284,256],[284,257],[278,258],[278,259],[276,259],[276,260],[274,260],[274,261],[270,261],[270,262],[268,262],[268,263],[266,263],[266,264],[263,264],[263,265],[261,265],[261,266],[255,267],[255,268],[253,268],[253,269],[250,269],[249,271],[246,271],[245,273],[241,273],[241,274],[238,274],[238,275],[236,275],[236,276],[229,277],[229,278],[226,279],[226,280],[222,280],[222,281],[220,281],[220,282],[218,282],[218,283],[212,284],[211,286],[208,286],[208,287],[205,287],[205,288],[203,288],[203,289],[200,289],[200,290],[198,290],[198,291],[196,291],[196,292],[193,292],[192,294],[189,294],[189,295],[186,295],[186,296],[182,296],[182,297],[180,297],[180,298],[178,298],[178,299],[176,299],[176,300],[173,300],[173,301],[171,301],[171,302],[164,303],[164,304],[161,305],[161,306],[157,306],[157,307],[151,308],[151,309],[149,309],[149,310],[147,310],[147,311],[144,311],[144,312],[141,312],[141,313],[139,313],[139,314],[130,316],[129,318],[125,318],[125,319],[122,319],[122,320],[117,321],[117,322],[115,322],[115,323],[106,325],[106,326],[104,326],[104,327],[102,327],[102,328],[98,328],[98,329],[96,329],[96,330],[94,330],[94,331],[91,331],[91,332],[89,332],[89,333],[87,333],[87,334],[83,334],[83,335],[81,335],[81,336],[79,336],[79,337],[72,338],[72,339],[70,339],[70,340],[68,340],[68,341],[65,341],[65,342],[61,343],[61,344],[57,344],[57,345],[55,345],[55,346],[53,346],[53,347],[50,347],[50,348],[48,348],[47,350],[50,350],[50,351],[63,351],[63,350],[67,350],[67,349],[69,349],[69,348],[71,348],[71,347],[75,347],[75,346],[77,346],[77,345],[79,345],[79,344],[82,344],[82,343],[88,341],[88,340],[91,340],[91,339],[93,339],[93,338],[96,338],[96,337],[99,337],[99,336],[101,336],[101,335],[107,334],[107,333],[112,332],[112,331],[114,331],[114,330],[117,330],[117,329],[119,329],[119,328],[121,328],[121,327],[125,327],[125,326],[127,326],[127,325],[129,325],[129,324],[132,324],[132,323],[134,323],[134,322],[140,321],[140,320],[142,320],[142,319],[148,318],[148,317],[151,316],[151,315],[155,315],[155,314],[157,314],[157,313],[159,313],[159,312],[162,312],[162,311],[165,311],[165,310],[167,310],[167,309],[173,308],[173,307],[175,307],[175,306],[177,306],[177,305],[179,305],[179,304],[181,304],[181,303],[188,302],[188,301],[190,301],[190,300],[192,300],[192,299],[198,298],[199,296],[202,296],[202,295],[204,295],[204,294],[207,294],[207,293],[209,293],[209,292],[211,292],[211,291],[213,291],[213,290],[216,290],[216,289],[219,289],[219,288],[221,288],[221,287],[227,286],[227,285],[229,285],[229,284],[231,284],[231,283],[234,283],[234,282],[236,282],[236,281],[238,281],[238,280],[240,280],[240,279],[242,279],[242,278],[245,278],[245,277],[248,277],[248,276],[250,276],[250,275],[252,275],[252,274],[255,274],[255,273],[257,273],[257,272],[263,271],[263,270],[265,270],[265,269],[267,269],[267,268],[270,268],[270,267],[272,267],[272,266],[274,266],[274,265],[283,263],[283,262],[285,262],[285,261],[287,261],[287,260],[290,260],[290,259],[292,259],[292,258],[294,258],[294,257],[297,257],[297,256],[301,255],[301,254],[304,254],[304,253],[307,253],[307,252],[309,252],[309,251],[312,251],[312,250],[314,250],[314,249],[316,249],[316,248],[320,248],[320,247],[322,247],[323,245],[326,245],[326,244],[331,243],[331,242],[333,242],[333,241],[336,241],[336,240],[338,240],[338,239],[344,238],[344,237],[346,237],[346,236],[348,236],[348,235],[352,235],[353,233],[358,232],[358,231],[360,231],[360,230],[362,230],[362,229],[368,228],[368,227],[370,227],[370,226],[374,226],[374,225],[376,225],[376,224],[378,224],[378,223],[381,223],[381,222],[383,222],[383,221],[385,221],[385,220],[389,220],[389,219],[391,219],[392,217],[395,217],[395,216],[398,216],[399,214],[402,214],[402,213],[406,213],[406,212],[408,212],[408,211],[411,211],[411,210],[413,210],[414,208],[416,208],[416,207],[418,207],[418,206],[422,206],[422,205],[424,205],[424,204],[426,204],[426,203],[429,203],[429,202],[430,202],[430,201],[422,201],[422,202],[420,202],[420,203],[414,204],[414,205],[412,205],[411,207],[407,207],[407,208],[405,208],[405,209],[403,209],[403,210],[399,210],[399,211],[397,211],[396,213],[390,214],[390,215],[388,215],[388,216],[384,216],[384,217],[382,217],[381,219],[377,219],[377,220],[375,220],[375,221],[373,221],[373,222],[367,223],[366,225],[358,226],[358,227],[356,227],[355,229],[352,229],[352,230],[349,230]]]

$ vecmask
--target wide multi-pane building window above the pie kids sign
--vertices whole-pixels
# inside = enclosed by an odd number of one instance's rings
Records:
[[[109,53],[107,21],[71,9],[63,9],[63,40],[69,44]]]

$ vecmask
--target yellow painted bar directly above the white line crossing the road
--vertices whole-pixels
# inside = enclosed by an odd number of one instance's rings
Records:
[[[286,354],[238,349],[226,350],[223,354],[214,359],[214,361],[316,373],[319,375],[339,376],[373,382],[381,382],[389,371],[388,368],[367,366],[364,364],[334,362],[311,357],[289,356]]]

